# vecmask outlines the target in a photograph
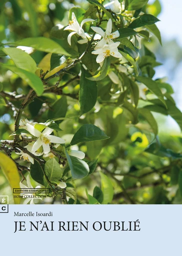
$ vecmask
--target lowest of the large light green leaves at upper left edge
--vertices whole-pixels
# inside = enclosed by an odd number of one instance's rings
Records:
[[[25,80],[29,84],[29,86],[36,92],[38,96],[42,94],[43,84],[38,76],[13,65],[6,65],[2,63],[0,63],[0,65],[3,65],[4,68],[7,68],[15,74],[19,75],[23,80]]]

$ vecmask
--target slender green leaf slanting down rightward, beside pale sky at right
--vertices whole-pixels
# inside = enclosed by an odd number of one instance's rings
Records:
[[[137,76],[137,80],[144,83],[146,87],[155,94],[158,99],[166,106],[165,100],[163,98],[163,94],[161,93],[161,90],[158,86],[158,83],[156,81],[153,81],[150,77],[144,77],[144,76]]]

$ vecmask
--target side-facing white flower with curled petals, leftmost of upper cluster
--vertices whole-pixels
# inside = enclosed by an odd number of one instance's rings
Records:
[[[69,20],[69,25],[64,28],[64,30],[72,30],[73,31],[67,36],[67,41],[68,41],[69,45],[71,45],[71,36],[73,34],[78,34],[79,36],[81,36],[83,38],[82,40],[78,41],[79,43],[87,42],[88,41],[87,38],[86,38],[87,34],[82,29],[82,26],[85,22],[94,21],[94,19],[85,18],[81,21],[81,24],[79,25],[74,12],[72,12],[72,17],[71,18],[72,18],[72,20]]]

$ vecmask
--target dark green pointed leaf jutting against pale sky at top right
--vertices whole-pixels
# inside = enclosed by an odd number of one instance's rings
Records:
[[[134,19],[130,25],[128,26],[129,28],[136,28],[144,25],[152,25],[155,22],[159,21],[158,18],[154,17],[151,14],[143,14],[136,19]]]

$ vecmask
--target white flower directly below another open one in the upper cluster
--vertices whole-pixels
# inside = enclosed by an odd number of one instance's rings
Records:
[[[94,50],[91,52],[92,54],[98,54],[98,56],[96,57],[97,63],[102,62],[105,57],[108,57],[110,55],[116,58],[122,57],[122,55],[120,54],[120,52],[118,52],[118,49],[117,49],[120,42],[111,42],[108,44],[105,43],[102,45],[102,47],[100,47],[101,45],[100,44],[98,45],[98,43],[96,44]]]

